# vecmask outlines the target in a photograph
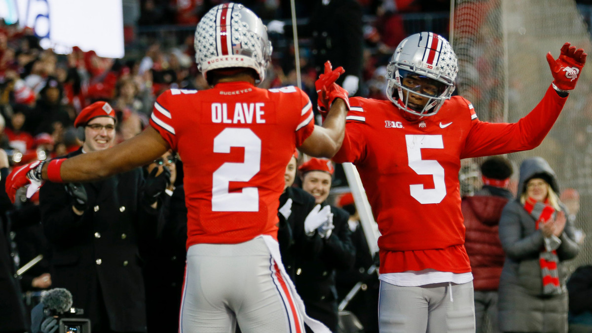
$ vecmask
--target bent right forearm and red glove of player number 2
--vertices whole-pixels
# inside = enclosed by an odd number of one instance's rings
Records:
[[[344,72],[341,67],[332,69],[329,61],[325,63],[325,72],[318,80],[322,82],[322,88],[317,87],[317,94],[326,99],[325,105],[331,106],[323,126],[314,126],[313,133],[298,148],[307,155],[332,158],[341,148],[349,110],[348,91],[334,82]]]

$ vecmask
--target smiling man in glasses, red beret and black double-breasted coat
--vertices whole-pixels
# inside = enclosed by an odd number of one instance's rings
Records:
[[[108,103],[84,108],[82,148],[67,158],[101,151],[115,137]],[[41,221],[52,249],[53,287],[72,293],[93,332],[146,332],[140,242],[156,231],[157,197],[168,172],[144,180],[136,168],[88,184],[47,182],[40,190]]]

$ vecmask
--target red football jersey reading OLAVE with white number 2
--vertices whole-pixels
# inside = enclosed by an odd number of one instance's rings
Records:
[[[276,238],[286,165],[314,130],[303,91],[247,82],[170,89],[150,124],[183,161],[188,247]]]

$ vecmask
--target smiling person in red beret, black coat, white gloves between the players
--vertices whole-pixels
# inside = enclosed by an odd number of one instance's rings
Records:
[[[312,194],[315,203],[327,206],[331,187],[333,165],[329,159],[312,158],[298,168],[303,180],[303,190]],[[356,251],[348,226],[349,214],[343,209],[330,206],[331,216],[317,229],[323,246],[313,260],[297,257],[295,285],[304,300],[307,313],[337,330],[336,269],[349,270]]]

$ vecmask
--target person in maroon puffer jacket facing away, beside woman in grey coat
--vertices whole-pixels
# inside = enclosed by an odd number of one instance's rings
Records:
[[[513,198],[508,190],[512,172],[512,165],[506,158],[493,156],[486,159],[481,164],[483,187],[474,196],[462,198],[465,248],[474,278],[477,333],[486,331],[486,317],[493,332],[498,332],[497,287],[506,257],[498,236],[498,224],[501,210]]]

